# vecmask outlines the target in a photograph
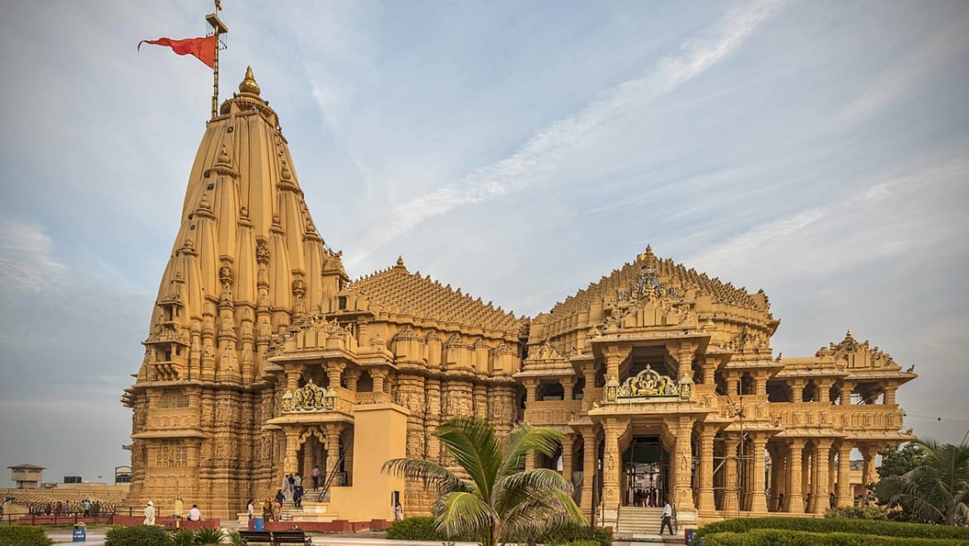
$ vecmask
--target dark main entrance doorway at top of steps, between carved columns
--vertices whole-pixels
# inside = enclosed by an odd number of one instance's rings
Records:
[[[633,436],[622,454],[624,506],[662,506],[669,491],[670,455],[659,436]]]

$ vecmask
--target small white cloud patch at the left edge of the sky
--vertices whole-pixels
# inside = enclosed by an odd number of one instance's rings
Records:
[[[54,241],[37,224],[0,220],[0,284],[6,290],[37,292],[61,278],[64,264]]]

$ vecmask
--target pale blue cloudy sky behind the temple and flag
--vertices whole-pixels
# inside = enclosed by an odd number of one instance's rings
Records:
[[[650,243],[763,288],[775,354],[915,365],[905,428],[967,433],[969,3],[223,5],[221,97],[251,65],[352,277],[402,255],[534,316]],[[0,466],[128,463],[212,78],[136,45],[209,11],[0,3]]]

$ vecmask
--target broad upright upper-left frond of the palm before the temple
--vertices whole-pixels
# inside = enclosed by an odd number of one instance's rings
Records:
[[[434,435],[471,476],[482,498],[490,498],[502,463],[501,444],[494,429],[482,419],[461,416],[441,424]]]

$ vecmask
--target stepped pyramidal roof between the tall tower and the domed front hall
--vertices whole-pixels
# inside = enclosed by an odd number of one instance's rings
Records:
[[[509,334],[517,334],[524,324],[514,313],[463,294],[460,288],[442,285],[430,275],[410,273],[403,258],[398,258],[391,268],[361,276],[347,290],[365,297],[370,305],[388,305],[398,312],[438,322],[481,326]]]

